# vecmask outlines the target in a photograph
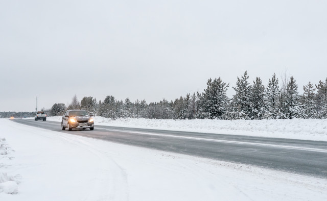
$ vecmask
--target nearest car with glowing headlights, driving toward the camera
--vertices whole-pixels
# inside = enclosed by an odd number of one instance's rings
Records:
[[[61,129],[72,131],[72,129],[94,130],[93,115],[88,115],[85,110],[67,110],[62,116]]]

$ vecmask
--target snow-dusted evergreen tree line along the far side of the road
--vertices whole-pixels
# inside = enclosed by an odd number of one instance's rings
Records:
[[[67,109],[85,109],[88,113],[106,118],[155,118],[155,119],[292,119],[292,118],[327,118],[327,79],[313,85],[303,86],[303,94],[298,93],[294,77],[281,80],[274,73],[264,86],[260,78],[252,83],[247,71],[237,78],[235,95],[229,98],[226,92],[229,83],[221,78],[208,79],[207,87],[202,92],[186,94],[172,101],[162,99],[147,103],[145,99],[131,102],[118,100],[112,95],[97,101],[92,96],[85,96],[81,102],[75,95],[72,103],[54,104],[50,115],[62,115]]]

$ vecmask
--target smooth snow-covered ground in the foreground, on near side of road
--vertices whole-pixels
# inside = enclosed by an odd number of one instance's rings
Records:
[[[327,200],[325,179],[0,127],[0,200]]]

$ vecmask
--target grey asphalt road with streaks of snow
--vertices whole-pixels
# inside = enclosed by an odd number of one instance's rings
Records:
[[[95,125],[95,130],[62,131],[61,123],[15,122],[110,142],[327,178],[327,142],[238,135],[135,129]]]

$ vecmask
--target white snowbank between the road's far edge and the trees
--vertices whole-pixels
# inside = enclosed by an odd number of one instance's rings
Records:
[[[114,127],[235,134],[301,140],[327,141],[327,119],[264,119],[264,120],[172,120],[172,119],[108,119],[94,117],[95,124]],[[61,116],[48,117],[61,121]]]

